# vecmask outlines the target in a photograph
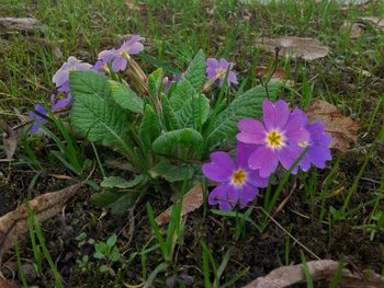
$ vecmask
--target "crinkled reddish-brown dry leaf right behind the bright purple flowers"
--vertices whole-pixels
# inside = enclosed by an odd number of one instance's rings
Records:
[[[359,138],[360,125],[351,118],[342,116],[339,110],[321,100],[316,100],[307,111],[309,122],[321,122],[326,131],[332,137],[330,148],[346,152],[348,139],[357,141]]]

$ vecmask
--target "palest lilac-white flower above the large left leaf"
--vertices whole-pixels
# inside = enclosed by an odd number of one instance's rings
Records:
[[[59,92],[69,92],[69,71],[72,70],[89,70],[92,66],[87,62],[78,60],[76,57],[70,56],[68,61],[65,62],[60,69],[56,71],[52,81],[59,88]]]

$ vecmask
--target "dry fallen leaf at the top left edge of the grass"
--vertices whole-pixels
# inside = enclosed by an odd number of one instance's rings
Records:
[[[0,18],[0,35],[18,32],[32,32],[37,27],[38,20],[34,18]]]

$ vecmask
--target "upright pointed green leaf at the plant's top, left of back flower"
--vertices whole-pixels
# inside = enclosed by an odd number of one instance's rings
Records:
[[[201,91],[205,82],[205,55],[199,51],[189,65],[184,79],[190,81],[195,91]]]

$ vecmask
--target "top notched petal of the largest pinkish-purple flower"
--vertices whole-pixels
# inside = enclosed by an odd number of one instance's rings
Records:
[[[271,101],[264,101],[262,105],[263,122],[268,131],[281,130],[290,117],[290,107],[286,102],[279,100],[274,105]]]

